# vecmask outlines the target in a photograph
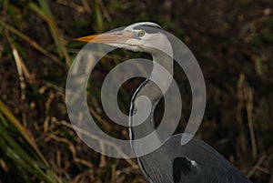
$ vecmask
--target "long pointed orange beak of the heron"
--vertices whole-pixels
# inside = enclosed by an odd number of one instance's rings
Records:
[[[134,38],[132,31],[116,31],[104,33],[101,35],[83,36],[76,38],[76,41],[91,42],[91,43],[104,43],[104,44],[124,44],[130,38]]]

